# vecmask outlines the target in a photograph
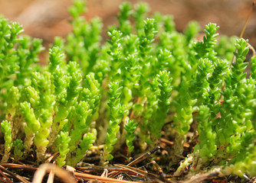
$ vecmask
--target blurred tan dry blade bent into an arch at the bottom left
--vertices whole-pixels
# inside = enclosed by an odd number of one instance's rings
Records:
[[[54,170],[55,175],[60,177],[63,180],[63,182],[66,182],[66,183],[76,182],[74,180],[74,177],[72,177],[72,175],[69,172],[65,171],[64,169],[61,169],[57,165],[48,164],[48,163],[45,163],[39,166],[38,170],[34,173],[34,178],[32,182],[33,183],[41,182],[44,178],[44,174],[46,172],[51,172],[52,170]]]

